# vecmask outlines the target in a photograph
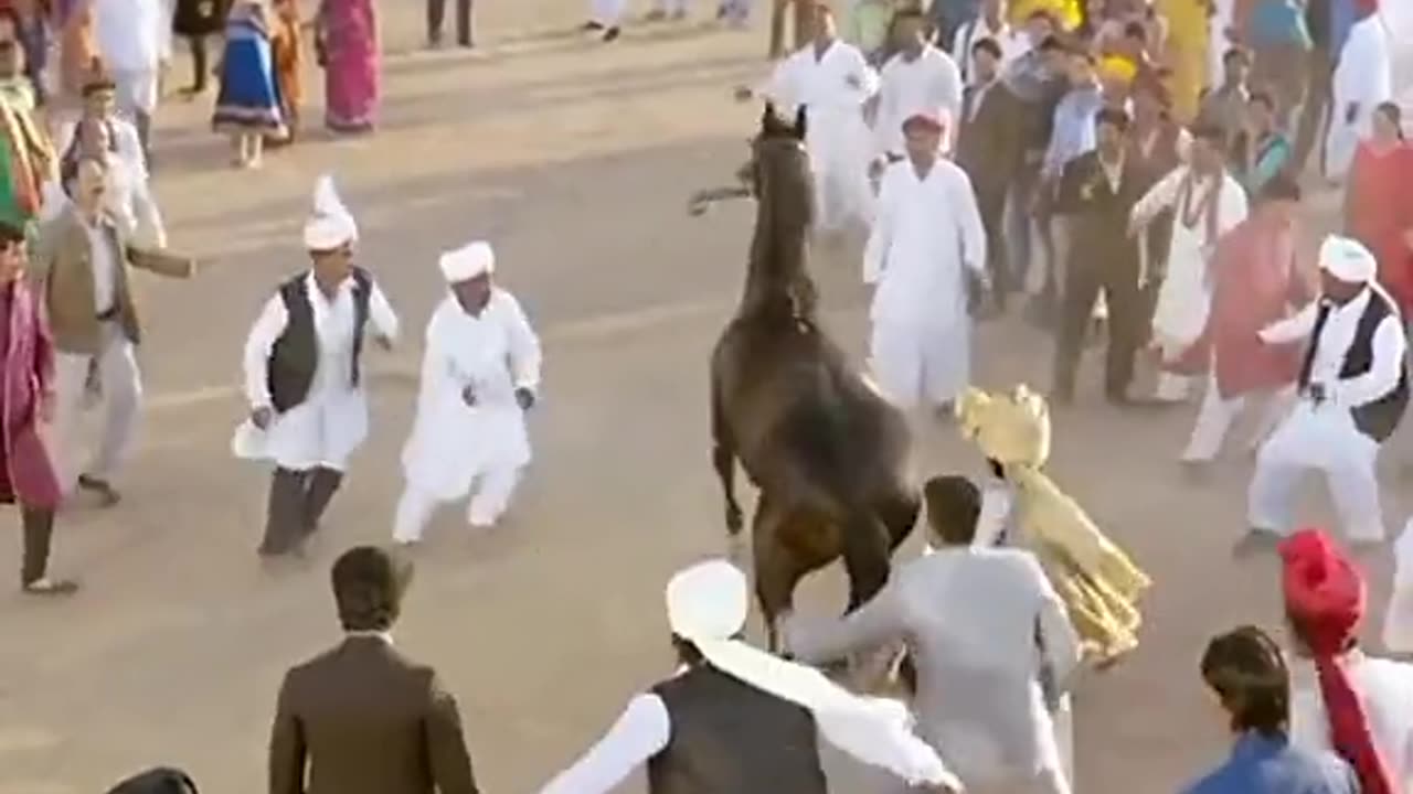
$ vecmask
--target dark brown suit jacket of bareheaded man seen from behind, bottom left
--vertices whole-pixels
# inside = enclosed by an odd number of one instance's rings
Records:
[[[305,771],[308,770],[308,784]],[[376,636],[350,636],[285,675],[270,794],[478,794],[456,699]]]

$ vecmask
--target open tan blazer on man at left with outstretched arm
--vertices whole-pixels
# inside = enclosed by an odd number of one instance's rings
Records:
[[[137,250],[109,219],[105,218],[102,223],[116,253],[114,261],[120,263],[113,290],[117,322],[136,345],[141,340],[141,326],[129,268],[140,267],[158,275],[189,278],[196,263],[168,253]],[[40,229],[30,266],[31,277],[44,290],[55,349],[62,353],[97,355],[102,333],[97,308],[93,305],[93,251],[73,205],[64,208],[64,212]]]

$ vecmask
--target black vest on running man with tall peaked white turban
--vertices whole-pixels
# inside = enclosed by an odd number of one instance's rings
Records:
[[[314,326],[314,305],[309,304],[308,275],[295,275],[280,285],[280,300],[288,315],[284,333],[270,350],[266,376],[270,383],[270,403],[277,413],[304,403],[314,386],[319,366],[319,332]],[[373,280],[363,268],[353,268],[353,366],[352,386],[359,384],[359,359],[363,353],[363,326],[367,325],[367,304]]]

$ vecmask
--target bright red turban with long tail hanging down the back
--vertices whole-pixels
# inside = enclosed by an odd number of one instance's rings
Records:
[[[1280,557],[1286,615],[1320,672],[1331,743],[1354,767],[1365,794],[1397,794],[1341,660],[1364,619],[1364,575],[1321,530],[1300,530],[1280,545]]]

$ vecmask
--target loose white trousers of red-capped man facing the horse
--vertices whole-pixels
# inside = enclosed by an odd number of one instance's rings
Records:
[[[873,321],[869,363],[879,389],[904,410],[957,400],[971,381],[969,331],[966,321],[951,328]]]

